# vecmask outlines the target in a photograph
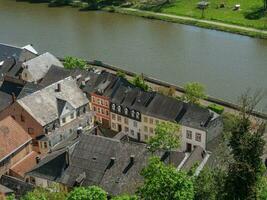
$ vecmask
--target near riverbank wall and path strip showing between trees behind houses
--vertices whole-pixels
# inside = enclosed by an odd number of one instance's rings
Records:
[[[62,58],[59,58],[60,60],[63,60]],[[93,67],[97,67],[100,68],[101,70],[107,70],[111,73],[117,73],[118,71],[123,72],[127,75],[128,78],[133,78],[134,76],[136,76],[136,73],[128,71],[128,70],[124,70],[122,68],[119,68],[117,66],[113,66],[107,63],[103,63],[102,61],[86,61],[88,65],[91,65]],[[181,86],[177,86],[171,83],[168,83],[166,81],[161,81],[159,79],[150,77],[150,76],[146,76],[143,75],[144,80],[148,83],[148,85],[153,89],[153,90],[158,90],[159,87],[163,87],[163,88],[175,88],[176,90],[176,95],[177,96],[182,96],[185,92],[184,88]],[[238,114],[240,111],[240,106],[222,99],[218,99],[212,96],[207,96],[204,100],[201,100],[200,102],[203,106],[208,106],[210,104],[217,104],[220,106],[224,107],[224,111],[228,112],[228,113],[232,113],[232,114]],[[258,112],[258,111],[253,111],[252,112],[252,116],[254,116],[255,118],[260,118],[263,120],[267,120],[267,113],[262,113],[262,112]]]

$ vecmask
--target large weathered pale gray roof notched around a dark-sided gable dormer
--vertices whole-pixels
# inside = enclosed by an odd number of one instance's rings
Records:
[[[61,91],[58,91],[58,85]],[[71,77],[38,90],[17,102],[42,126],[58,119],[58,101],[62,99],[77,109],[89,101]]]

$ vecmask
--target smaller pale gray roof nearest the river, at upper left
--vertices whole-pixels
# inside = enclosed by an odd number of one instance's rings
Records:
[[[31,81],[39,81],[40,79],[42,79],[52,65],[64,67],[63,64],[55,56],[48,52],[26,61],[22,65],[31,73]]]

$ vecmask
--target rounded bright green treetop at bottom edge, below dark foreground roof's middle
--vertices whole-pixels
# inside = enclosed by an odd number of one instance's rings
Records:
[[[107,193],[97,187],[77,187],[71,191],[67,200],[107,200]]]

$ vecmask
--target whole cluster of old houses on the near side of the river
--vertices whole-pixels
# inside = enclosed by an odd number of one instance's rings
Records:
[[[220,116],[206,108],[107,71],[65,69],[32,45],[0,44],[0,193],[16,190],[15,182],[132,193],[150,155],[145,142],[162,122],[181,126],[181,148],[157,152],[177,170],[206,162],[208,143],[222,131]]]

